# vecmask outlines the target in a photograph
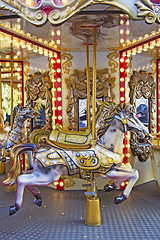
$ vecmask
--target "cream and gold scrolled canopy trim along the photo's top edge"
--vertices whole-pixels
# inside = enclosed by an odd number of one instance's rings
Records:
[[[159,23],[159,6],[149,0],[69,0],[66,3],[56,0],[0,0],[0,9],[9,10],[24,18],[26,21],[42,26],[47,21],[53,25],[60,25],[93,4],[112,5],[122,9],[134,20],[145,19],[147,23]],[[138,13],[137,13],[137,8]]]

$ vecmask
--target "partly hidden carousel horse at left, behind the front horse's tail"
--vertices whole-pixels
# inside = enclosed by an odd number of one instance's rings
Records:
[[[28,118],[34,118],[36,115],[37,113],[33,108],[20,107],[14,119],[13,130],[0,132],[0,148],[9,151],[13,145],[25,142],[24,122]],[[32,158],[30,154],[31,153],[28,152],[29,159]]]

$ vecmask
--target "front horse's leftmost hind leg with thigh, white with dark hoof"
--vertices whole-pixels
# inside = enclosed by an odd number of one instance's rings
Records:
[[[54,181],[57,181],[61,176],[61,172],[56,169],[46,169],[40,165],[38,167],[37,166],[38,164],[31,174],[23,174],[17,178],[16,202],[15,205],[10,207],[9,215],[16,213],[22,206],[23,193],[26,186],[46,186]],[[33,190],[33,188],[30,188],[30,190],[31,189]]]

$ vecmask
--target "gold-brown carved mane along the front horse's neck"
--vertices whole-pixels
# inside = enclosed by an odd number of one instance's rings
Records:
[[[119,115],[121,117],[121,113],[128,114],[131,112],[130,105],[126,105],[125,103],[120,103],[113,110],[111,110],[107,117],[104,118],[104,124],[100,126],[97,130],[97,139],[101,141],[101,137],[105,134],[107,129],[109,128],[112,120],[115,115]]]

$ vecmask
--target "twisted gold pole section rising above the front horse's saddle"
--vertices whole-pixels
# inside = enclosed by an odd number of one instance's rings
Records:
[[[96,139],[96,60],[97,60],[97,28],[93,27],[93,84],[92,84],[92,140]]]

